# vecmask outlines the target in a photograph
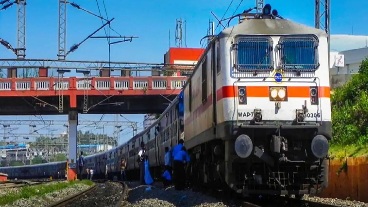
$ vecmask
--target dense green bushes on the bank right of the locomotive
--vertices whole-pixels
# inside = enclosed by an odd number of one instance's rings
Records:
[[[331,97],[332,144],[368,143],[368,59]]]

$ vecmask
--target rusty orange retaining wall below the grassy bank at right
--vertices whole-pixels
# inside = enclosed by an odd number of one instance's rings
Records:
[[[347,170],[336,172],[344,161],[347,161]],[[329,184],[317,196],[339,199],[359,200],[368,203],[368,157],[349,157],[343,160],[330,159]]]

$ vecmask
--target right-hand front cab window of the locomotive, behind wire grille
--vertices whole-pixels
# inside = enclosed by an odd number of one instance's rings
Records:
[[[280,67],[284,70],[316,70],[318,39],[314,35],[284,36],[279,41]]]

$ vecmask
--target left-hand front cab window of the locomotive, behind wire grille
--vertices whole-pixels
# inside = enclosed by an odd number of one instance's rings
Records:
[[[272,70],[272,39],[269,37],[242,36],[235,44],[237,70]]]

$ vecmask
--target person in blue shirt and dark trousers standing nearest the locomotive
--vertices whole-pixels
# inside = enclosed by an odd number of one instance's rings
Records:
[[[184,162],[190,162],[190,157],[185,147],[181,148],[174,157],[174,185],[175,190],[183,190],[185,187]]]

